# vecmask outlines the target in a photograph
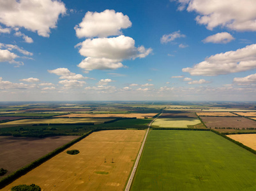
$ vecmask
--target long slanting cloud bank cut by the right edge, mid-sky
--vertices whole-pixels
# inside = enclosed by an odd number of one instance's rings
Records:
[[[245,48],[218,53],[207,57],[193,67],[183,68],[192,76],[216,76],[219,74],[237,73],[256,68],[256,44]]]

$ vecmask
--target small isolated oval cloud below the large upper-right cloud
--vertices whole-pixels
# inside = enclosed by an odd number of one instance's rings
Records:
[[[213,34],[208,36],[207,38],[203,39],[204,43],[229,43],[230,41],[234,40],[234,37],[229,34],[229,32],[219,32],[217,34]]]

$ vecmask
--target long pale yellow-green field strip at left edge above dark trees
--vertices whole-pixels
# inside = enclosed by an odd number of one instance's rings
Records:
[[[17,125],[28,124],[79,124],[79,123],[94,123],[103,124],[113,120],[113,118],[45,118],[45,119],[24,119],[0,124],[0,128],[14,127]]]

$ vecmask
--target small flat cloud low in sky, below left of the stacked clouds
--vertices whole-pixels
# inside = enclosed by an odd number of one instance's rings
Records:
[[[49,73],[56,74],[59,79],[66,79],[66,80],[86,80],[88,77],[82,76],[82,74],[75,74],[70,72],[68,68],[59,67],[57,69],[47,70]]]

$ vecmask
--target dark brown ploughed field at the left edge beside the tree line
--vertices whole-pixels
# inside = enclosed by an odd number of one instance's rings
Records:
[[[0,136],[0,168],[8,170],[7,176],[54,149],[79,138],[79,136],[54,136],[49,138],[14,138]],[[1,176],[4,177],[4,176]]]

